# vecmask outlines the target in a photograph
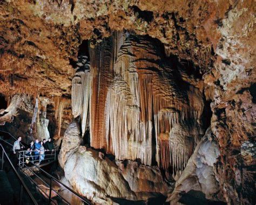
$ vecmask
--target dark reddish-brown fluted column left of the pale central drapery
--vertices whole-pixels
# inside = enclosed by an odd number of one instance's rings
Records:
[[[113,66],[120,46],[123,44],[123,32],[114,32],[113,36],[90,50],[91,95],[90,95],[90,142],[96,149],[106,146],[105,140],[105,103],[107,90],[113,80]]]

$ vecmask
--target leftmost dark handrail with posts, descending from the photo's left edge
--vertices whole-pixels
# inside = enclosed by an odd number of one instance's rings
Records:
[[[21,186],[21,193],[20,193],[20,198],[19,198],[19,202],[21,204],[22,201],[22,192],[23,192],[23,187],[26,190],[26,193],[28,193],[30,199],[33,201],[34,204],[38,204],[37,201],[35,200],[35,198],[33,197],[32,193],[30,192],[29,188],[26,186],[25,182],[23,181],[21,175],[17,172],[17,170],[15,169],[14,165],[12,164],[10,158],[8,157],[8,154],[5,152],[3,145],[0,143],[0,146],[2,147],[3,153],[2,153],[2,170],[3,170],[3,163],[4,163],[4,155],[5,157],[8,159],[12,169],[14,169],[14,172],[16,173],[16,175],[18,176],[19,181],[21,181],[22,186]]]

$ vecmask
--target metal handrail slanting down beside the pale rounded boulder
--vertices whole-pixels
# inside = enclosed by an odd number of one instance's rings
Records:
[[[21,154],[22,157],[25,157],[23,154]],[[66,189],[68,189],[72,194],[76,195],[80,200],[82,200],[83,202],[85,202],[86,204],[91,204],[91,202],[87,199],[85,199],[83,196],[79,195],[78,193],[76,193],[74,190],[72,190],[71,188],[69,188],[68,186],[64,185],[64,183],[60,182],[59,180],[57,180],[54,176],[52,176],[51,174],[49,174],[48,172],[45,172],[44,169],[40,168],[39,166],[37,166],[36,164],[34,164],[31,160],[28,159],[28,161],[35,167],[37,167],[40,171],[42,171],[44,174],[46,174],[49,178],[50,178],[50,185],[48,185],[50,187],[50,192],[49,192],[49,200],[51,200],[51,190],[53,192],[56,193],[56,191],[54,189],[52,189],[52,180],[57,182],[59,185],[65,187]],[[62,199],[64,199],[63,197],[61,197]],[[65,200],[65,199],[64,199]]]

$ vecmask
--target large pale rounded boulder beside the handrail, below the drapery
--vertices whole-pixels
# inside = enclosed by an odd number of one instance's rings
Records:
[[[107,158],[100,159],[96,151],[79,146],[66,160],[64,171],[70,185],[92,201],[94,197],[102,199],[100,204],[109,204],[104,199],[111,197],[136,200],[117,166]]]

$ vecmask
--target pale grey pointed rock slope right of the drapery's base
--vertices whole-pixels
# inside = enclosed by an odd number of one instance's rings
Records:
[[[214,171],[214,164],[219,156],[220,150],[217,140],[212,134],[211,128],[208,128],[205,136],[201,139],[193,155],[188,160],[167,201],[170,204],[176,204],[182,195],[191,190],[204,193],[206,199],[212,201],[224,200],[223,195],[219,193],[220,186]]]

